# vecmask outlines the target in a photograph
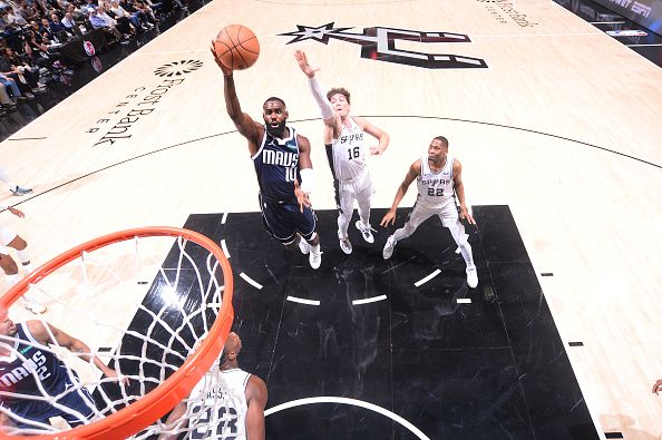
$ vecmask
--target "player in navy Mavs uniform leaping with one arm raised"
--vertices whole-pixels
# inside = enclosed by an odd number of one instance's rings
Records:
[[[285,125],[289,115],[281,98],[271,97],[264,101],[264,124],[254,121],[243,113],[232,69],[221,62],[213,42],[211,50],[223,71],[227,115],[238,133],[249,140],[249,151],[260,185],[264,226],[286,248],[294,250],[299,245],[303,254],[309,254],[311,267],[319,268],[322,264],[320,236],[315,232],[317,217],[309,199],[314,186],[310,141]]]

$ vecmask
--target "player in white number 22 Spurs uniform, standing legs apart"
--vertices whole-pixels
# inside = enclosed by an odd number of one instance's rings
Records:
[[[463,167],[458,159],[448,155],[448,139],[444,136],[437,136],[428,147],[428,154],[425,157],[411,164],[409,173],[400,184],[393,205],[381,219],[381,226],[388,226],[396,223],[396,209],[409,185],[416,179],[418,185],[418,197],[413,209],[403,227],[397,229],[389,236],[383,246],[383,258],[389,260],[393,255],[396,244],[407,238],[416,228],[430,218],[432,215],[439,216],[445,227],[450,229],[455,243],[459,246],[460,253],[467,264],[467,285],[471,289],[478,285],[478,273],[474,264],[471,245],[467,242],[465,226],[459,218],[466,219],[475,225],[476,221],[467,211],[465,203],[465,186],[461,176]],[[455,194],[459,202],[459,215],[455,204]]]

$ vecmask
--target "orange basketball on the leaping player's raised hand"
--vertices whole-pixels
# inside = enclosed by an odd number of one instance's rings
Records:
[[[260,41],[255,33],[245,26],[230,25],[216,36],[214,50],[225,67],[242,70],[257,61]]]

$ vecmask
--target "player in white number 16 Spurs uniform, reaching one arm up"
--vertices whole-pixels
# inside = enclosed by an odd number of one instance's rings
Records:
[[[345,254],[352,253],[352,244],[348,237],[348,227],[354,212],[354,201],[359,205],[359,217],[356,223],[363,239],[374,243],[370,227],[370,199],[374,193],[367,155],[381,155],[389,145],[389,136],[367,119],[350,116],[350,94],[343,88],[333,88],[324,94],[315,79],[315,71],[301,50],[295,52],[299,67],[309,79],[309,86],[322,111],[324,120],[324,146],[329,166],[333,174],[335,203],[338,205],[338,239]],[[364,134],[377,138],[379,145],[368,148]]]

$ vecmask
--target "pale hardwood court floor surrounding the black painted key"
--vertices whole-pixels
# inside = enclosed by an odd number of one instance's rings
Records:
[[[323,87],[345,86],[353,113],[391,136],[371,164],[374,207],[390,205],[434,136],[449,138],[469,203],[507,205],[535,272],[554,274],[538,282],[598,431],[659,438],[662,403],[650,390],[662,375],[662,74],[552,1],[508,4],[272,0],[240,8],[216,0],[0,145],[2,165],[36,189],[18,205],[26,219],[2,213],[2,222],[41,263],[110,231],[255,212],[245,141],[225,114],[207,53],[222,26],[244,23],[262,53],[235,75],[243,109],[260,118],[267,96],[288,102],[291,123],[313,145],[315,208],[334,203],[319,110],[295,49],[321,67]],[[322,28],[329,23],[350,29],[331,35]],[[386,28],[470,41],[413,41],[395,31],[392,47],[388,38],[379,47],[363,39]],[[309,38],[286,45],[299,31]],[[487,67],[429,69],[402,63],[409,59],[393,50]],[[184,68],[177,81],[157,75]],[[401,206],[412,202],[410,190]],[[332,234],[322,246],[338,246]]]

